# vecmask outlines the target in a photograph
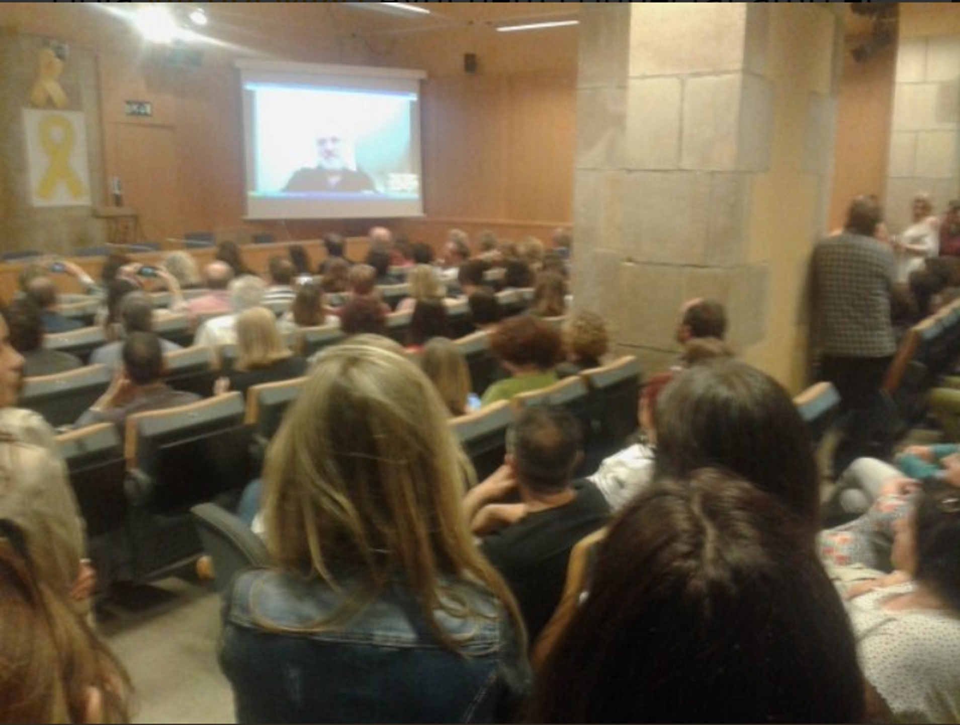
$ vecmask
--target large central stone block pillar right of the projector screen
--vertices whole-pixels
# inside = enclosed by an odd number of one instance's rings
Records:
[[[828,4],[582,7],[575,306],[648,374],[684,300],[806,382],[806,270],[823,232],[842,17]]]

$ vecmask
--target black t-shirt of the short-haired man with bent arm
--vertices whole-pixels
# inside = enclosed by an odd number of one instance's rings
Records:
[[[529,514],[480,544],[514,592],[531,644],[560,603],[570,549],[610,518],[610,506],[596,486],[578,480],[573,489],[577,497],[565,506]]]

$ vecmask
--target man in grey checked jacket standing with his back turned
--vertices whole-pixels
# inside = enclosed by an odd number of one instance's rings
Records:
[[[814,322],[821,377],[841,399],[843,436],[834,451],[839,474],[871,448],[885,422],[880,385],[897,347],[890,322],[894,255],[875,231],[883,216],[876,198],[853,200],[842,233],[813,253]]]

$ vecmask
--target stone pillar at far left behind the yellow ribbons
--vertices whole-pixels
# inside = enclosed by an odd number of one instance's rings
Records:
[[[60,86],[68,105],[83,111],[86,151],[93,205],[34,207],[30,204],[26,130],[23,109],[31,108],[30,92],[37,78],[37,57],[47,38],[0,35],[0,251],[36,250],[74,254],[83,247],[107,241],[102,220],[93,207],[104,205],[104,154],[101,143],[100,92],[95,56],[74,45],[68,47]]]

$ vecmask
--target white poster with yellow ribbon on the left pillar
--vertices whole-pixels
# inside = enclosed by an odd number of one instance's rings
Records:
[[[84,114],[62,110],[23,110],[35,206],[90,205]]]

